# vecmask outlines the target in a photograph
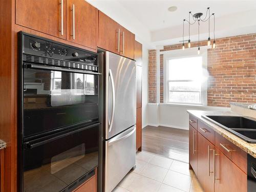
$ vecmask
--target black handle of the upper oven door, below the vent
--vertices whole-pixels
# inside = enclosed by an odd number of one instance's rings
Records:
[[[101,73],[86,71],[86,70],[75,70],[70,68],[60,68],[60,67],[50,67],[50,66],[42,66],[36,65],[32,63],[25,63],[24,67],[29,69],[42,69],[42,70],[51,70],[51,71],[64,71],[64,72],[71,72],[71,73],[82,73],[82,74],[92,74],[92,75],[101,75]]]

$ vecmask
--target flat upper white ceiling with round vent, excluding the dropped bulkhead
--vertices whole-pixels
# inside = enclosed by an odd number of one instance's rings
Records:
[[[216,18],[256,9],[256,0],[119,0],[119,2],[150,31],[181,25],[184,18],[188,19],[189,11],[201,12],[205,15],[207,7],[210,7],[211,13],[216,13]],[[176,6],[177,11],[169,12],[168,8],[171,6]]]

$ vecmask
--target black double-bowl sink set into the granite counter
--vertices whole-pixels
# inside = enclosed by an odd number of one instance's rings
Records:
[[[240,116],[203,115],[205,119],[219,125],[248,143],[256,143],[256,119]]]

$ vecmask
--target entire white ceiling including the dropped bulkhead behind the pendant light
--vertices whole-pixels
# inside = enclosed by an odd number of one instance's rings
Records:
[[[183,19],[188,19],[188,12],[202,12],[205,15],[207,7],[216,14],[217,38],[256,32],[256,0],[86,1],[135,33],[136,40],[146,44],[149,49],[178,44],[182,40]],[[170,6],[177,6],[177,11],[169,12]],[[192,41],[198,39],[196,25],[191,27],[190,34]],[[200,36],[200,40],[208,37],[206,24],[201,24]]]

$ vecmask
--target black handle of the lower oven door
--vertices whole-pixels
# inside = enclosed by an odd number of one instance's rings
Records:
[[[51,137],[51,138],[45,137],[45,138],[42,138],[42,139],[35,139],[33,141],[28,141],[28,142],[24,143],[24,146],[25,146],[25,148],[31,149],[31,148],[34,148],[34,147],[37,147],[37,146],[40,146],[40,145],[43,145],[43,144],[55,141],[55,140],[60,139],[62,137],[66,137],[66,136],[72,135],[74,133],[87,130],[87,129],[89,129],[91,127],[94,127],[94,126],[97,126],[99,124],[101,124],[101,123],[100,122],[94,123],[92,125],[89,125],[89,126],[86,126],[86,127],[82,127],[81,129],[73,130],[71,132],[64,133],[64,134],[59,134],[59,135],[57,135],[55,137]]]

